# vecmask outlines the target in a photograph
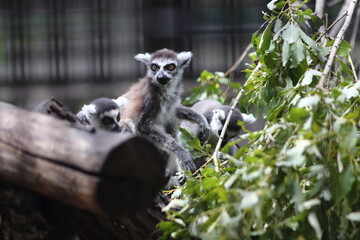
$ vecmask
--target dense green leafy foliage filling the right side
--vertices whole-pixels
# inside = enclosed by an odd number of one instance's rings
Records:
[[[316,40],[321,20],[296,2],[271,1],[251,40],[261,67],[245,70],[254,77],[239,105],[262,109],[266,126],[245,134],[234,156],[225,146],[220,172],[209,164],[172,193],[162,239],[360,239],[360,82],[348,67],[351,47],[344,41],[337,52],[330,88],[318,87],[333,42]],[[222,74],[203,72],[199,81],[188,103],[226,100]],[[186,140],[208,157],[209,146]]]

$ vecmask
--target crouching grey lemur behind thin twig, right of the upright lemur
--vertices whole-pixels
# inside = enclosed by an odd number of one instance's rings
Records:
[[[208,141],[212,146],[215,146],[219,140],[226,117],[229,114],[231,107],[228,105],[222,105],[218,101],[212,99],[205,99],[195,103],[191,109],[205,116],[210,125],[210,137]],[[226,129],[222,145],[225,145],[231,138],[234,138],[239,134],[241,127],[238,125],[238,121],[243,121],[248,124],[255,122],[255,120],[256,119],[252,114],[248,115],[241,113],[235,108]],[[199,129],[195,124],[188,121],[182,121],[181,127],[193,133],[195,136],[198,136]]]

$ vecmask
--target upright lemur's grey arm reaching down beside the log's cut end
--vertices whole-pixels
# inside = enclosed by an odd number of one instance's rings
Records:
[[[138,127],[140,132],[149,136],[168,151],[173,152],[182,162],[185,170],[195,172],[196,165],[193,157],[187,150],[179,145],[179,143],[171,135],[164,133],[160,128],[153,124],[152,121],[139,124]]]

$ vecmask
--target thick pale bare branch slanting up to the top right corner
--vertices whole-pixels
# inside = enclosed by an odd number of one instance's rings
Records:
[[[332,67],[332,64],[334,62],[334,58],[335,58],[335,55],[336,55],[336,52],[337,50],[339,49],[340,47],[340,43],[342,42],[343,38],[344,38],[344,35],[345,35],[345,32],[347,30],[347,28],[349,27],[350,25],[350,22],[351,22],[351,18],[352,18],[352,15],[354,13],[354,9],[355,9],[355,6],[356,6],[356,3],[357,3],[357,0],[352,0],[350,5],[349,5],[349,9],[347,10],[347,14],[346,14],[346,18],[345,18],[345,23],[344,25],[341,27],[339,33],[337,34],[336,38],[335,38],[335,41],[334,41],[334,45],[333,47],[331,48],[331,51],[330,51],[330,55],[329,55],[329,59],[328,61],[326,62],[326,65],[325,65],[325,68],[324,68],[324,71],[321,75],[321,78],[320,78],[320,81],[318,83],[318,87],[319,88],[323,88],[324,87],[324,83],[325,83],[325,80],[326,80],[326,77],[328,76],[330,70],[331,70],[331,67]]]

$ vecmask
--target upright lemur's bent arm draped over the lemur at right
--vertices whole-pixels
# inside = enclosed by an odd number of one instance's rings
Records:
[[[199,140],[205,142],[210,137],[210,126],[204,115],[195,112],[193,109],[179,106],[176,109],[176,116],[180,119],[190,120],[199,125]]]

